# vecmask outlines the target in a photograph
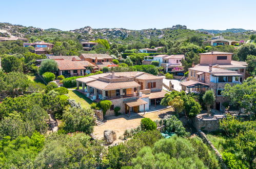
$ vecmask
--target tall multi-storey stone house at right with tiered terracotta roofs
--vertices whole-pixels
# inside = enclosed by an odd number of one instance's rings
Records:
[[[217,110],[222,110],[226,99],[222,91],[227,83],[231,86],[245,79],[247,64],[243,61],[231,60],[233,53],[208,52],[200,54],[200,64],[189,68],[187,81],[181,82],[182,90],[201,92],[212,89],[215,93]]]

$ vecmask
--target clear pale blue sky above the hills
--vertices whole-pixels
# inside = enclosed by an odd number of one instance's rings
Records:
[[[189,29],[256,30],[255,0],[0,0],[0,22],[43,29],[148,29],[186,25]]]

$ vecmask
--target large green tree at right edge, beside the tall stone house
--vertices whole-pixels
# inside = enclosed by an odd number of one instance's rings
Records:
[[[229,84],[225,85],[225,90],[222,91],[224,97],[230,99],[231,105],[241,108],[245,113],[249,113],[251,118],[255,118],[256,112],[256,79],[249,77],[242,84],[237,84],[230,86]]]

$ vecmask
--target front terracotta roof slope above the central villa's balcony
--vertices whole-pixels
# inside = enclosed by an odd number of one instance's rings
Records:
[[[135,81],[124,81],[124,82],[105,82],[101,80],[96,80],[93,82],[87,83],[87,86],[100,89],[100,90],[114,90],[114,89],[123,89],[123,88],[136,88],[140,87]]]

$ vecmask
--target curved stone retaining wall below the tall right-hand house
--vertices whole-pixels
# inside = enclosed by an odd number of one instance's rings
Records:
[[[207,132],[213,132],[220,129],[220,119],[223,119],[224,115],[214,115],[209,117],[206,114],[199,114],[192,118],[192,124],[196,130],[204,130]]]

